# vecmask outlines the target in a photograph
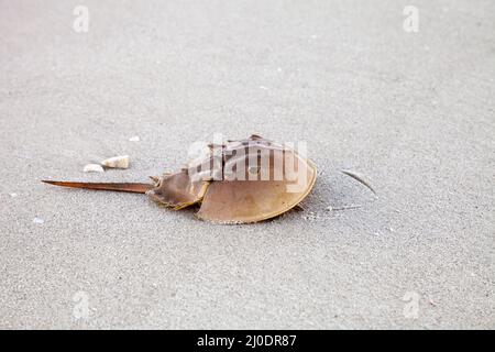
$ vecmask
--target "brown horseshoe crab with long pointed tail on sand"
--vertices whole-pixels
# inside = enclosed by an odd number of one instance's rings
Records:
[[[251,135],[210,144],[187,167],[152,184],[44,180],[97,190],[146,194],[174,210],[200,205],[197,217],[217,223],[249,223],[277,217],[296,207],[312,189],[315,164],[294,148]]]

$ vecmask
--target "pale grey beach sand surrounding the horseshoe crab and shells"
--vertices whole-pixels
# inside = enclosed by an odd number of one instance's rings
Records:
[[[0,4],[0,328],[495,328],[494,1],[415,1],[418,33],[409,1],[84,3],[82,34],[75,2]],[[218,132],[307,141],[307,210],[38,182],[143,182]]]

